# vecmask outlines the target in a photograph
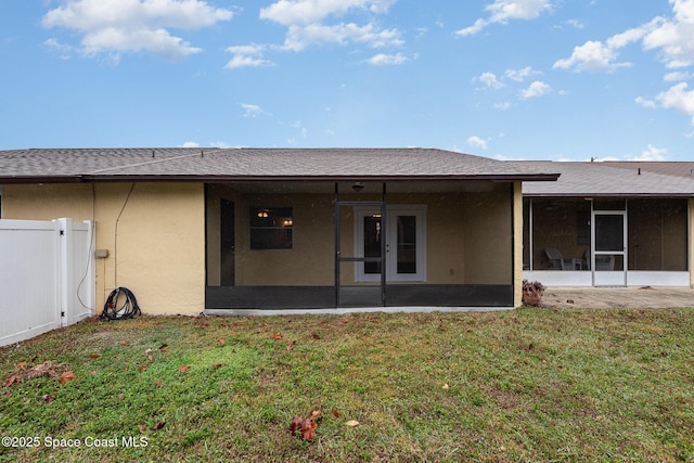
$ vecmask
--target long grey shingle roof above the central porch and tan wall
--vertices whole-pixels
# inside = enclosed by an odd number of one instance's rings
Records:
[[[0,151],[0,182],[338,178],[555,180],[556,173],[435,149]]]

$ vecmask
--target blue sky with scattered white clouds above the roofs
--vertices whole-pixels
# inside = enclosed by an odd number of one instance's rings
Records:
[[[694,0],[4,0],[0,149],[694,158]]]

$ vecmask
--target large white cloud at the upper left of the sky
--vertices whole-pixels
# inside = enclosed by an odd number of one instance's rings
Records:
[[[42,24],[78,33],[86,55],[144,51],[181,59],[201,49],[168,29],[200,29],[232,16],[202,0],[67,0],[50,10]]]

